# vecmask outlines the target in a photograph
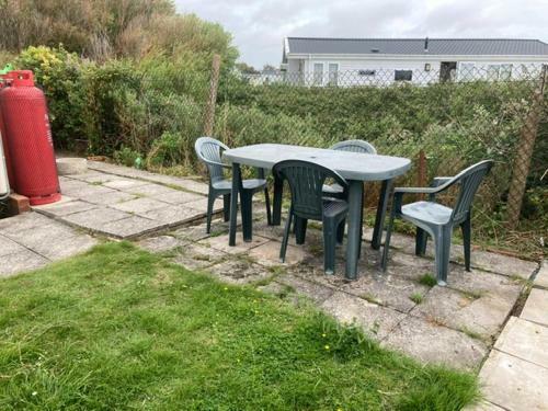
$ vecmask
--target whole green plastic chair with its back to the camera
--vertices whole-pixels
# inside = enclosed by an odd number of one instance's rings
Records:
[[[281,261],[285,261],[294,217],[305,228],[306,221],[309,219],[322,221],[323,269],[326,274],[334,274],[336,232],[339,226],[344,224],[349,203],[344,199],[324,197],[322,189],[327,179],[333,179],[343,187],[344,192],[346,192],[349,184],[338,172],[309,161],[281,161],[274,165],[273,172],[282,181],[287,180],[292,192],[292,205],[279,250]],[[304,230],[300,232],[304,237]]]

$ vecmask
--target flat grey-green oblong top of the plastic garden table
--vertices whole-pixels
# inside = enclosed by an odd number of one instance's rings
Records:
[[[272,169],[284,160],[312,161],[339,172],[344,179],[361,181],[390,180],[411,167],[411,160],[401,157],[365,155],[324,148],[260,144],[226,150],[224,161],[263,169]]]

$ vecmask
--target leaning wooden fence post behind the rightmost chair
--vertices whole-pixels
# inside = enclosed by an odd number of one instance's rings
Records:
[[[510,181],[509,199],[507,199],[507,222],[509,229],[515,229],[520,222],[522,213],[523,196],[529,175],[530,159],[535,148],[538,126],[540,123],[540,114],[543,112],[544,93],[547,82],[547,65],[543,65],[540,81],[533,93],[533,101],[525,118],[525,123],[520,136],[520,142],[516,148],[514,168],[512,169],[512,180]]]

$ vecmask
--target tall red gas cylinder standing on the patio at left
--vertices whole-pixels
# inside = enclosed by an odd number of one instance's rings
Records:
[[[7,77],[10,85],[0,91],[0,111],[16,192],[31,205],[57,202],[61,195],[44,93],[34,87],[31,70]]]

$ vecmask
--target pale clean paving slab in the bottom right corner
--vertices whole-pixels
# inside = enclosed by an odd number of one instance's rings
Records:
[[[548,410],[548,369],[491,351],[480,372],[486,399],[505,410]]]

